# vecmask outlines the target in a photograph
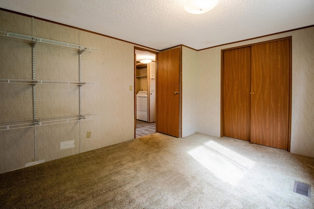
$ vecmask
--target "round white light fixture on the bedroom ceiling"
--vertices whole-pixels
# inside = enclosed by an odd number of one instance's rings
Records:
[[[218,0],[187,0],[184,9],[192,14],[203,14],[213,9],[217,4]]]

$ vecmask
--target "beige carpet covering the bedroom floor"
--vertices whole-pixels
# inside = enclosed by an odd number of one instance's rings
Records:
[[[0,208],[313,209],[313,197],[293,192],[295,180],[313,187],[313,158],[154,133],[0,174]]]

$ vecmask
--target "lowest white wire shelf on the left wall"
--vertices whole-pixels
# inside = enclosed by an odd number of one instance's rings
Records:
[[[51,117],[51,118],[42,118],[36,120],[21,120],[21,121],[9,121],[9,122],[0,122],[0,131],[12,130],[12,129],[22,129],[34,126],[45,126],[52,124],[60,123],[69,123],[80,120],[92,120],[99,119],[99,115],[85,114],[85,115],[70,115],[62,117]]]

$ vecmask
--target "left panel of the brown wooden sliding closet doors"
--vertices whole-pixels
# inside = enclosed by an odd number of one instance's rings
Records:
[[[224,136],[250,140],[251,47],[223,52]]]

